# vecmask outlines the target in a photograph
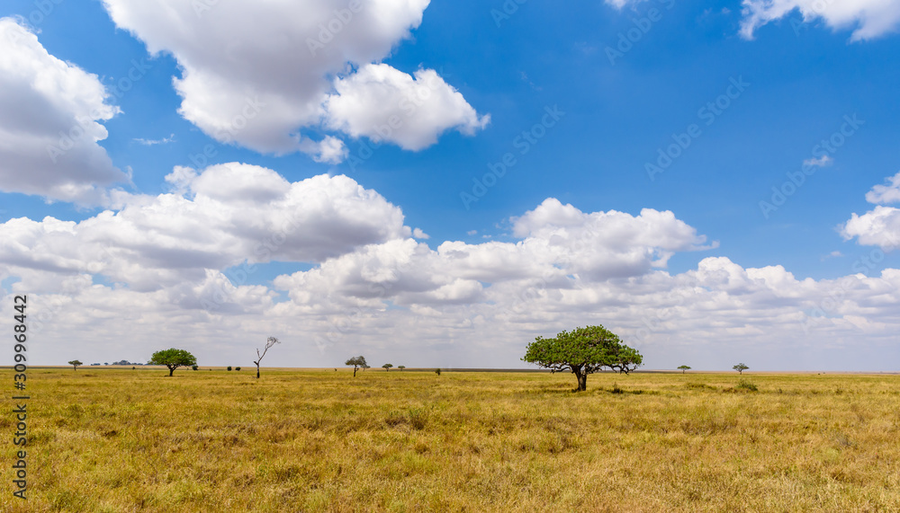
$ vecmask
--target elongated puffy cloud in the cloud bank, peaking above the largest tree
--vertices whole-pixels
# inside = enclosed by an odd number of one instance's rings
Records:
[[[703,235],[671,212],[584,213],[557,199],[514,219],[514,234],[521,240],[446,241],[437,250],[410,239],[372,244],[280,277],[275,286],[304,305],[320,305],[326,296],[357,306],[383,299],[407,306],[502,302],[492,298],[500,284],[570,288],[581,280],[635,277],[665,267],[671,252],[708,247]]]

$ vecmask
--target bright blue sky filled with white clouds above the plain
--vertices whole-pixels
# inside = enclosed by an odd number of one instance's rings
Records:
[[[898,0],[10,0],[31,365],[896,371]],[[13,363],[13,353],[3,357]]]

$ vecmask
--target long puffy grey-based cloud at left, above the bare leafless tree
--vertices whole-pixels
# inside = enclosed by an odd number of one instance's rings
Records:
[[[0,225],[0,261],[35,292],[55,287],[40,276],[73,273],[151,291],[243,261],[325,261],[410,235],[400,208],[343,175],[291,183],[231,163],[175,168],[166,181],[175,193],[120,191],[116,210],[80,222],[11,219]]]

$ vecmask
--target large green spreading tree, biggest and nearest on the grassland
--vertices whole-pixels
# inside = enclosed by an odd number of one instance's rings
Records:
[[[589,374],[604,367],[628,374],[644,362],[637,349],[623,344],[603,326],[575,328],[560,332],[553,339],[537,337],[528,344],[522,359],[553,372],[572,372],[578,379],[579,391],[587,389]]]

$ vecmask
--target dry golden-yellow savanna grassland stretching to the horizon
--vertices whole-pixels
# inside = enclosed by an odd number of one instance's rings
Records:
[[[351,372],[31,369],[0,509],[900,510],[900,376]]]

